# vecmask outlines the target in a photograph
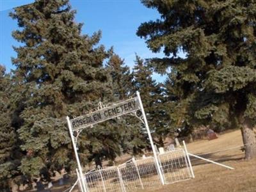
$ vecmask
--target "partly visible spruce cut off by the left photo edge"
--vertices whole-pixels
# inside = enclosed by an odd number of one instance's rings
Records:
[[[20,183],[17,176],[20,175],[19,165],[23,155],[17,138],[19,101],[19,86],[0,65],[0,188],[3,191],[11,190],[13,179]]]

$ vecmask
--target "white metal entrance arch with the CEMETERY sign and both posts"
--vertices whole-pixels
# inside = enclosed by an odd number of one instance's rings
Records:
[[[157,165],[157,170],[158,172],[161,172],[160,164],[157,158],[156,154],[156,149],[154,147],[154,143],[152,140],[152,136],[150,133],[150,129],[148,127],[148,122],[147,122],[147,116],[145,115],[145,111],[143,108],[143,104],[141,102],[141,97],[140,93],[136,92],[136,97],[133,97],[131,99],[127,99],[121,102],[116,102],[115,104],[107,105],[107,106],[102,106],[100,104],[99,109],[97,111],[93,111],[92,113],[88,113],[86,115],[78,116],[76,118],[73,118],[70,120],[70,118],[67,116],[67,122],[68,122],[68,130],[70,132],[70,137],[72,140],[72,145],[74,147],[74,152],[76,155],[76,161],[77,161],[77,166],[79,170],[79,178],[81,178],[81,188],[83,192],[87,192],[86,188],[86,180],[83,179],[83,170],[81,168],[81,163],[79,161],[79,156],[77,152],[77,146],[76,146],[76,141],[79,136],[79,133],[83,131],[83,129],[93,129],[93,125],[99,124],[100,122],[104,122],[106,120],[116,118],[118,116],[126,115],[129,113],[134,113],[136,111],[140,110],[142,113],[143,118],[140,118],[140,120],[143,122],[147,129],[148,133],[148,138],[150,140],[150,145],[152,147],[152,151],[154,153],[154,158],[156,160],[156,165]],[[88,128],[89,127],[89,128]],[[76,136],[74,136],[74,132],[77,132]],[[162,184],[164,184],[164,179],[163,175],[160,174],[160,179]]]

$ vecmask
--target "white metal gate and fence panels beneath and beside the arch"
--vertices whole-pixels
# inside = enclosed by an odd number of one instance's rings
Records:
[[[129,192],[161,186],[160,174],[163,175],[164,184],[192,178],[189,159],[182,148],[158,154],[157,157],[161,173],[154,157],[132,159],[129,163],[86,173],[86,189],[88,192]]]

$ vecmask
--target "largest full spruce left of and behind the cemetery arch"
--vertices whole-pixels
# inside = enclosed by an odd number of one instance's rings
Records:
[[[111,76],[103,62],[112,51],[97,46],[100,32],[81,35],[68,0],[37,0],[10,13],[19,24],[13,37],[15,78],[24,84],[19,118],[20,147],[26,154],[20,170],[29,180],[50,180],[54,171],[76,166],[65,116],[88,113],[97,103],[113,100]],[[118,130],[109,122],[79,136],[83,164],[113,157],[120,151]]]

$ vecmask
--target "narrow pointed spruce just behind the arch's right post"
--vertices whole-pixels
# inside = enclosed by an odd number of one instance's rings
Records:
[[[147,113],[148,126],[153,132],[152,136],[159,145],[163,146],[163,139],[167,133],[166,109],[163,106],[163,89],[161,84],[152,79],[152,71],[144,61],[136,55],[133,68],[133,92],[141,94],[145,113]]]

